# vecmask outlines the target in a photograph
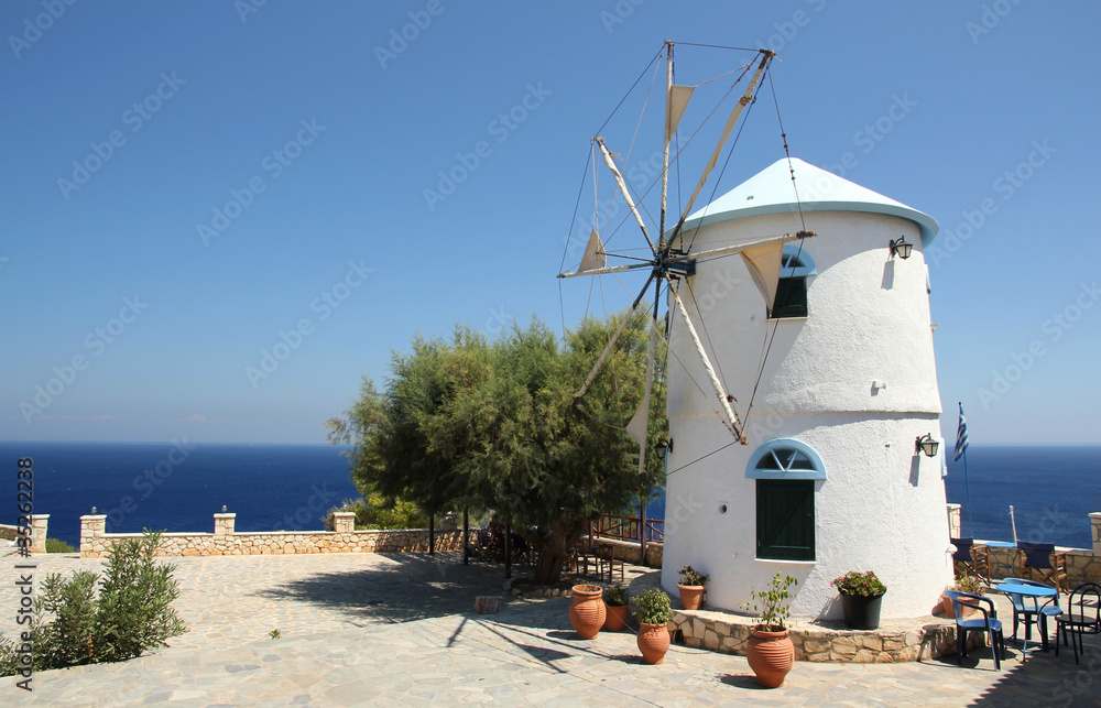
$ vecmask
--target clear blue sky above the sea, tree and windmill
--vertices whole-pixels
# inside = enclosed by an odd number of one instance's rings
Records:
[[[671,39],[771,44],[793,154],[851,153],[936,246],[990,200],[927,254],[948,437],[962,401],[975,444],[1101,443],[1101,8],[857,4],[4,2],[0,437],[320,443],[417,331],[558,327],[588,141]]]

